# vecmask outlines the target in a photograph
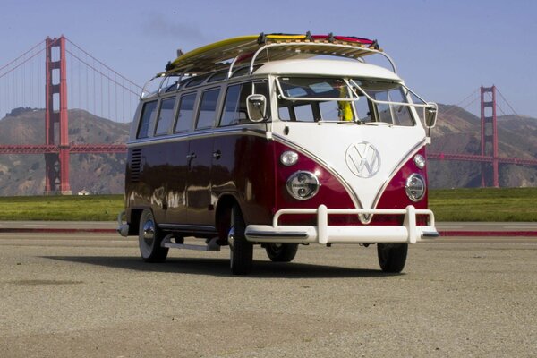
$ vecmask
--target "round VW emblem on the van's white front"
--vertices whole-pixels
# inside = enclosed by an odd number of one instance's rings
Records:
[[[371,178],[380,169],[379,151],[368,141],[351,144],[345,152],[345,161],[354,175]]]

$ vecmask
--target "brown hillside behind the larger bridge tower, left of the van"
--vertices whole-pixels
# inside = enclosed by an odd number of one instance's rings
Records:
[[[73,144],[125,143],[130,124],[118,124],[82,110],[69,110],[69,139]],[[0,120],[0,143],[43,144],[45,111],[26,109]],[[73,193],[123,193],[124,154],[72,154],[70,183]],[[43,155],[1,155],[0,195],[40,195],[45,189]]]

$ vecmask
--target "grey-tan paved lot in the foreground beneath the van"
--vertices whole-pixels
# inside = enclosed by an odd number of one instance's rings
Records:
[[[537,238],[413,245],[404,274],[376,249],[171,251],[144,264],[116,235],[0,234],[2,357],[537,356]]]

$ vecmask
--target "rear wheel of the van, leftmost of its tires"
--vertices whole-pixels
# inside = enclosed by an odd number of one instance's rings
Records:
[[[146,262],[164,262],[168,248],[160,246],[162,239],[162,233],[158,229],[153,213],[149,209],[143,210],[138,230],[141,259]]]

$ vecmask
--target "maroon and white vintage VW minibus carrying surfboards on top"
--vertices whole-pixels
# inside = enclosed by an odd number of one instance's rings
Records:
[[[260,34],[178,54],[141,93],[118,232],[148,262],[228,246],[235,275],[256,245],[289,262],[311,243],[375,244],[400,272],[409,243],[439,236],[436,116],[366,38]]]

